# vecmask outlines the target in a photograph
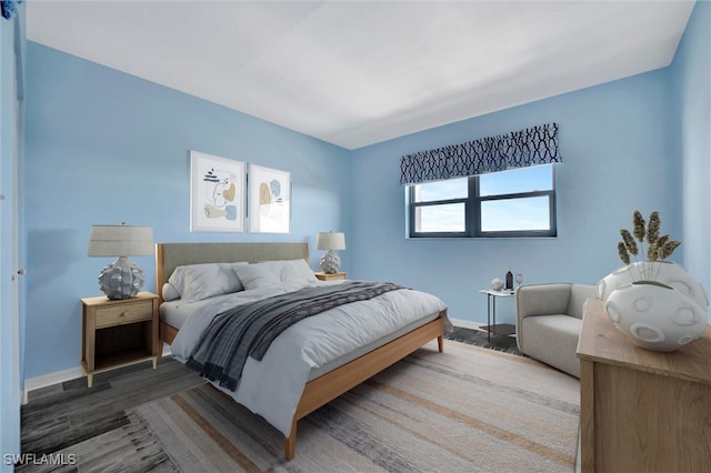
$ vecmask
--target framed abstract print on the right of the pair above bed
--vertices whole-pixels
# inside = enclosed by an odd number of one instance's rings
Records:
[[[289,233],[291,173],[249,164],[249,231]]]

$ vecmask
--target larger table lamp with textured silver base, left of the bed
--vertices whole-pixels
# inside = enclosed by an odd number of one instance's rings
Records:
[[[99,274],[99,285],[109,299],[131,299],[143,286],[146,274],[128,256],[154,254],[153,229],[150,227],[92,225],[89,256],[117,256]]]

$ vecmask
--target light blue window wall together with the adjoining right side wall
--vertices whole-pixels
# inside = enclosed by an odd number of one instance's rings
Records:
[[[672,260],[711,293],[711,4],[698,2],[670,68],[427,130],[353,152],[369,192],[353,202],[354,274],[439,294],[454,319],[485,322],[488,288],[508,266],[524,283],[594,284],[620,266],[619,229],[658,210],[683,241]],[[399,159],[414,151],[555,121],[555,239],[407,240]],[[374,211],[373,209],[378,209]],[[512,301],[499,316],[513,323]]]

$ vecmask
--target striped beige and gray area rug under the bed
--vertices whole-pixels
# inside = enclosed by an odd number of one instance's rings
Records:
[[[300,421],[291,462],[281,433],[209,384],[133,412],[184,472],[572,472],[579,381],[432,342]]]

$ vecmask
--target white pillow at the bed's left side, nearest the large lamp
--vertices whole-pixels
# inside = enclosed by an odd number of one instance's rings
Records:
[[[248,263],[202,263],[178,266],[168,282],[187,302],[244,290],[234,268]],[[164,299],[164,298],[163,298]]]

